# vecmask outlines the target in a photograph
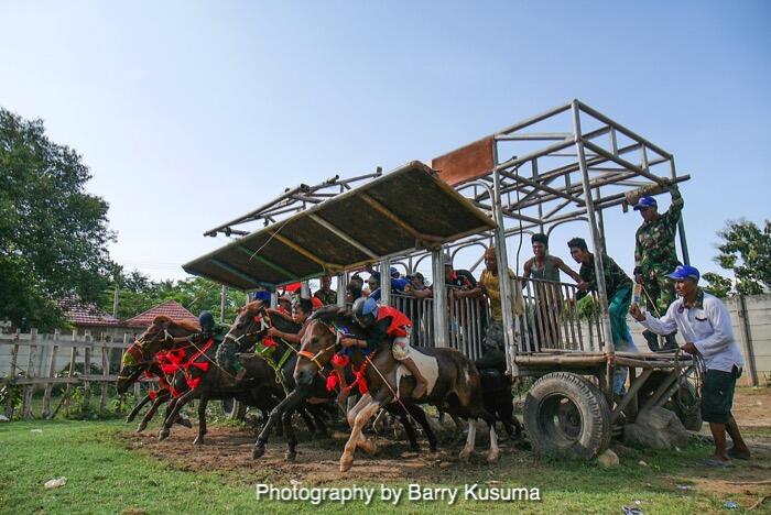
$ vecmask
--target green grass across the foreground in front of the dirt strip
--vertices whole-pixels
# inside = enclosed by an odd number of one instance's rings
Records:
[[[42,429],[42,432],[33,432]],[[195,512],[343,512],[362,508],[361,503],[345,507],[326,503],[260,502],[254,500],[257,478],[248,472],[191,472],[124,448],[116,435],[126,431],[119,420],[107,421],[19,421],[0,425],[0,512],[2,513],[195,513]],[[305,443],[312,445],[312,443]],[[541,502],[459,502],[464,512],[510,512],[512,506],[543,513],[569,511],[620,513],[633,505],[647,513],[694,513],[723,509],[725,498],[712,492],[681,491],[675,483],[694,473],[689,468],[708,454],[709,448],[692,443],[680,453],[634,451],[622,457],[619,468],[605,470],[593,463],[540,462],[522,453],[506,467],[468,465],[456,469],[455,485],[500,481],[501,485],[537,486]],[[649,467],[638,464],[644,459]],[[252,472],[253,474],[253,472]],[[67,484],[45,490],[50,479],[67,476]],[[260,474],[263,476],[263,474]],[[270,479],[270,470],[264,472]],[[377,478],[350,473],[351,483],[379,485]],[[404,486],[409,481],[404,481]],[[282,483],[281,485],[286,485]],[[329,486],[329,485],[325,485]],[[391,486],[395,486],[392,484]],[[432,486],[423,484],[423,486]],[[442,503],[402,502],[411,513],[446,511]],[[392,507],[377,500],[368,512],[391,513]]]

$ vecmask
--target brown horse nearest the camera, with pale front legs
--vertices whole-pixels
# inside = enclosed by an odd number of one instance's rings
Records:
[[[335,324],[348,328],[355,327],[350,315],[339,313],[335,317]],[[301,358],[294,371],[298,387],[310,384],[339,349],[337,328],[322,317],[311,320],[302,337]],[[473,421],[482,418],[490,431],[490,450],[487,460],[490,463],[497,461],[500,451],[495,428],[496,419],[484,407],[481,381],[474,363],[454,349],[421,349],[421,351],[435,358],[438,364],[436,383],[421,402],[433,404],[450,415],[469,421],[466,446],[460,451],[460,458],[465,460],[468,460],[474,452],[476,425]],[[413,349],[413,352],[417,351]],[[374,451],[374,443],[367,440],[361,432],[367,421],[381,406],[403,402],[402,398],[411,398],[414,387],[412,376],[403,376],[401,383],[397,384],[397,370],[400,364],[393,359],[388,347],[374,353],[373,357],[367,357],[360,350],[356,350],[351,359],[354,366],[365,371],[369,393],[348,412],[351,432],[340,457],[341,472],[349,470],[352,465],[357,447],[368,452]]]

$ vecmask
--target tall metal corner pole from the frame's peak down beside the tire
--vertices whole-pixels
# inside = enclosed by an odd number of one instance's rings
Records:
[[[612,358],[616,353],[613,347],[613,335],[610,330],[610,314],[608,313],[608,294],[605,288],[605,269],[602,266],[602,242],[597,229],[597,217],[595,216],[595,202],[591,198],[591,186],[589,171],[586,166],[586,155],[584,153],[584,142],[580,135],[580,113],[578,101],[573,101],[573,128],[575,130],[576,151],[578,153],[578,165],[584,183],[584,197],[586,198],[586,213],[589,218],[589,231],[591,232],[591,246],[595,251],[595,274],[597,275],[597,294],[599,297],[600,318],[602,319],[602,332],[605,333],[605,353],[608,357],[608,387],[612,391]]]

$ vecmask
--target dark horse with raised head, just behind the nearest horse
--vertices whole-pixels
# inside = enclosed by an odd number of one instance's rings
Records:
[[[248,349],[253,342],[260,341],[265,337],[268,329],[274,326],[282,332],[297,333],[301,330],[301,326],[294,320],[283,315],[274,309],[268,309],[265,306],[259,302],[254,300],[247,304],[239,311],[236,320],[230,328],[230,332],[225,337],[231,341],[235,341],[240,349]],[[279,340],[281,341],[281,340]],[[285,344],[285,343],[284,343]],[[280,352],[275,352],[274,355],[282,355]],[[260,458],[265,452],[265,443],[268,442],[268,436],[270,434],[271,427],[280,423],[282,419],[287,420],[293,410],[298,406],[305,404],[308,399],[326,399],[333,402],[336,397],[334,392],[329,392],[326,387],[326,379],[324,377],[325,371],[318,371],[308,377],[301,387],[298,387],[294,380],[294,370],[297,363],[297,355],[292,354],[292,357],[286,360],[281,369],[281,375],[284,384],[291,394],[284,398],[278,406],[273,408],[268,418],[268,423],[263,426],[257,441],[254,442],[254,450],[252,452],[253,458]],[[327,370],[326,373],[329,371]],[[417,436],[415,434],[414,427],[410,424],[408,414],[411,415],[423,428],[426,437],[428,438],[428,445],[432,451],[436,450],[436,437],[428,425],[428,420],[425,416],[425,412],[412,404],[405,404],[406,413],[401,409],[400,406],[387,406],[387,409],[394,415],[400,417],[408,438],[410,439],[410,445],[412,449],[420,449],[417,445]],[[286,459],[292,460],[296,457],[296,446],[297,440],[294,431],[291,427],[286,427]]]

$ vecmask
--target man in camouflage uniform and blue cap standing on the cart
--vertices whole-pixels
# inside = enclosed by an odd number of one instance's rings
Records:
[[[680,265],[675,250],[675,234],[683,210],[683,197],[677,186],[670,187],[672,206],[660,215],[658,202],[653,197],[642,197],[634,205],[640,211],[642,226],[634,235],[634,280],[642,285],[648,310],[655,317],[662,317],[670,305],[677,298],[674,284],[666,277]],[[674,332],[666,335],[665,346],[659,347],[659,337],[652,331],[643,332],[648,347],[652,351],[676,349]]]

